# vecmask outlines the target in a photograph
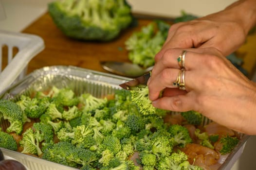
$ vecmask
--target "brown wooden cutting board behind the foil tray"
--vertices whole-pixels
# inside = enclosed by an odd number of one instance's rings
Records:
[[[128,51],[124,42],[151,19],[138,19],[138,26],[127,29],[111,42],[86,42],[66,37],[56,27],[48,13],[39,17],[24,29],[23,33],[36,34],[43,38],[45,49],[35,56],[28,65],[28,73],[45,66],[72,65],[97,71],[107,72],[100,66],[100,61],[115,60],[128,62]],[[235,36],[235,35],[234,35]],[[243,57],[245,68],[250,76],[254,73],[256,63],[256,34],[251,34],[247,42],[238,50]]]

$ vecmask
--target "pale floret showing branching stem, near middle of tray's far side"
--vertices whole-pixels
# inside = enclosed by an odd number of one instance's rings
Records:
[[[84,106],[83,110],[85,112],[92,111],[95,109],[102,109],[106,106],[108,100],[107,98],[100,99],[92,96],[89,93],[84,93],[79,97],[80,103]]]

